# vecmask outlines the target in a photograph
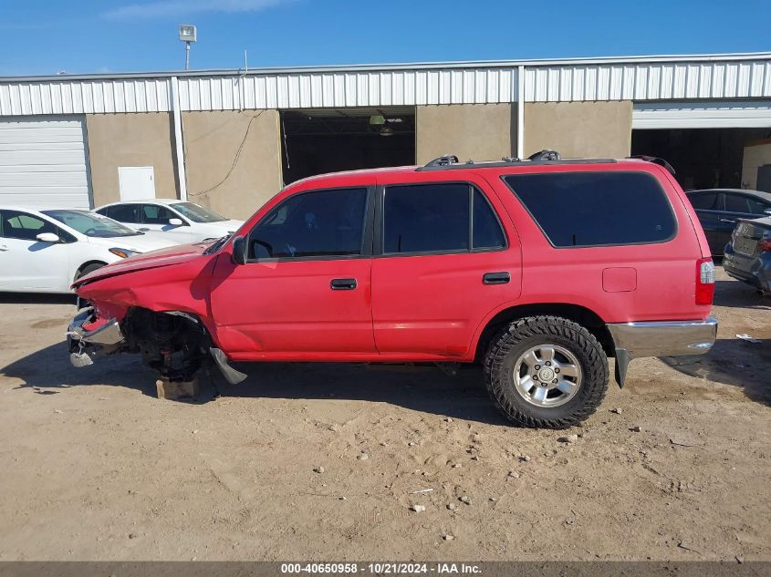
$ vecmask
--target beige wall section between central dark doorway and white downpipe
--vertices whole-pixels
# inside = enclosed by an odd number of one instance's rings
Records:
[[[419,164],[443,154],[455,154],[463,162],[500,160],[511,155],[512,150],[516,152],[516,105],[419,106],[415,110],[415,126]]]

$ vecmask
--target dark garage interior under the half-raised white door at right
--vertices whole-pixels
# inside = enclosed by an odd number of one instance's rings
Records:
[[[769,136],[771,129],[632,130],[631,153],[667,160],[686,191],[740,189],[745,146]]]

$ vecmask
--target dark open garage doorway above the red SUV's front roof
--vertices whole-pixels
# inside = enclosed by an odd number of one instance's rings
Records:
[[[415,109],[337,108],[281,112],[284,182],[339,170],[415,163]]]

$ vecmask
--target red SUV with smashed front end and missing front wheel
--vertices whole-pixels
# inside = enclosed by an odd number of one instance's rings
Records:
[[[528,427],[589,417],[632,358],[714,343],[714,265],[665,162],[533,160],[327,174],[233,236],[79,279],[70,359],[141,353],[172,380],[228,361],[481,363]]]

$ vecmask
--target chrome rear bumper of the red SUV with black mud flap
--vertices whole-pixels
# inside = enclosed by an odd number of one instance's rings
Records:
[[[608,325],[616,347],[616,381],[623,386],[627,367],[641,356],[703,355],[717,336],[717,319]]]

